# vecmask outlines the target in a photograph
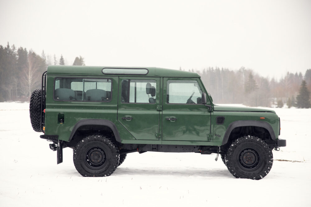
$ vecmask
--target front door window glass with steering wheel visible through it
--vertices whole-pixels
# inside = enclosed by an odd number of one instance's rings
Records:
[[[167,103],[198,104],[201,97],[202,90],[195,80],[167,81]]]

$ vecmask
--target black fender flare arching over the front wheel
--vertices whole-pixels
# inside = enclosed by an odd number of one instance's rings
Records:
[[[239,121],[234,121],[231,124],[229,124],[224,138],[222,140],[222,145],[227,144],[228,140],[229,140],[229,136],[232,132],[232,130],[236,127],[246,127],[246,126],[254,126],[254,127],[262,127],[268,130],[268,132],[270,133],[270,136],[272,138],[272,140],[276,140],[273,128],[270,124],[268,124],[267,122],[263,122],[263,121],[254,121],[254,120],[239,120]]]

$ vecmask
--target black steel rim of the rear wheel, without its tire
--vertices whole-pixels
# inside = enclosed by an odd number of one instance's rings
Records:
[[[102,167],[106,161],[106,154],[100,147],[91,147],[84,154],[86,164],[94,169]]]

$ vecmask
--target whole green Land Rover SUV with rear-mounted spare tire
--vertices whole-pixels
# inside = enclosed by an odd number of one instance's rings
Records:
[[[279,139],[273,110],[217,106],[197,73],[164,68],[49,66],[30,120],[82,176],[109,176],[127,153],[217,153],[236,178],[269,173]]]

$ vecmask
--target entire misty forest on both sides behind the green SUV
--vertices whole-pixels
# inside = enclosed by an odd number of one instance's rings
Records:
[[[29,101],[31,92],[41,88],[41,76],[48,65],[65,65],[63,55],[57,60],[42,51],[41,55],[14,45],[0,45],[0,102]],[[73,65],[85,65],[77,56]],[[311,69],[305,74],[287,72],[281,79],[262,77],[251,69],[208,67],[203,70],[182,69],[200,74],[214,103],[246,106],[309,108]]]

